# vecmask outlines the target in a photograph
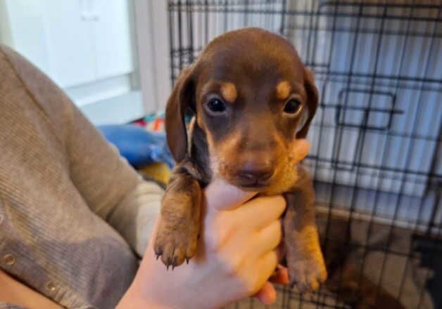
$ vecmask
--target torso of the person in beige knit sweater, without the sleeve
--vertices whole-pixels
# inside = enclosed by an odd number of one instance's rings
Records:
[[[8,70],[0,64],[0,268],[65,307],[111,308],[137,258],[84,202],[63,141]]]

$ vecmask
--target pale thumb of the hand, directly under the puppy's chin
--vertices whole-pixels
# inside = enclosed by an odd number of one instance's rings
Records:
[[[257,192],[248,192],[215,178],[204,190],[204,199],[208,209],[227,210],[244,204]]]

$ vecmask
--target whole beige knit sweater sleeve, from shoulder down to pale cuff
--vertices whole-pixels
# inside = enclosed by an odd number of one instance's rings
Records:
[[[139,176],[48,77],[18,53],[0,46],[65,150],[70,178],[91,211],[142,256],[163,190]]]

